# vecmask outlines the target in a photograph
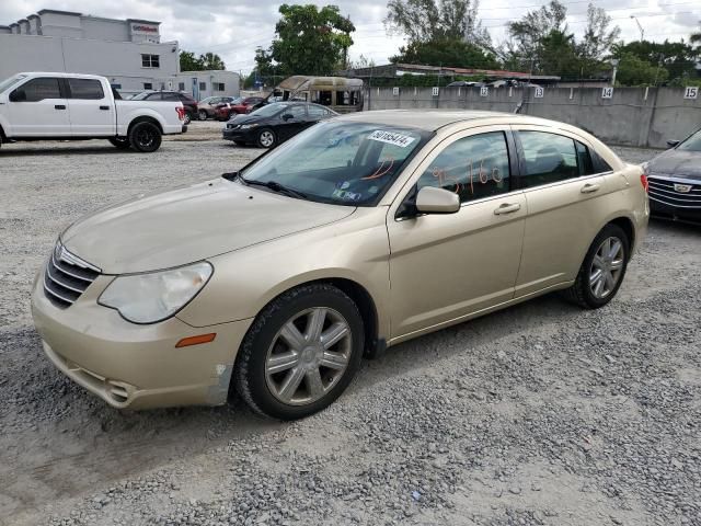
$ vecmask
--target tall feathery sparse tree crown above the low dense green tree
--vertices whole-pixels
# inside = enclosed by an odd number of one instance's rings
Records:
[[[479,0],[390,0],[384,24],[410,45],[444,39],[490,48],[490,33],[478,19]]]

